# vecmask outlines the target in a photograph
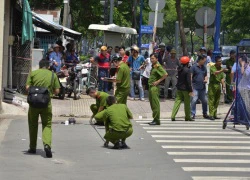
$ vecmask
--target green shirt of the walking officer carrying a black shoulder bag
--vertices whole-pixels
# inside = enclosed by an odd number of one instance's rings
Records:
[[[52,83],[51,78],[52,71],[49,71],[48,69],[38,69],[29,74],[26,85],[48,88],[50,96],[53,96],[53,91],[59,89],[60,84],[55,73]]]

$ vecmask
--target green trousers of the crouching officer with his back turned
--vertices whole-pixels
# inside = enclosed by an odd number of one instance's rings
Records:
[[[120,141],[120,139],[122,141],[125,141],[129,136],[131,136],[133,134],[133,128],[130,127],[126,132],[122,132],[122,131],[115,131],[113,129],[109,129],[105,136],[104,139],[106,139],[106,141],[112,142],[113,144],[117,143]]]

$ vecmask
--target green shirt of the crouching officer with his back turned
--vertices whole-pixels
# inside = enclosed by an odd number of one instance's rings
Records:
[[[104,113],[105,126],[115,131],[127,131],[132,127],[129,119],[131,119],[132,113],[125,104],[113,104],[109,106]]]

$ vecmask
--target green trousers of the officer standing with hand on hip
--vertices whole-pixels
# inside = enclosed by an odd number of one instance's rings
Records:
[[[157,86],[150,86],[149,87],[149,102],[150,107],[153,111],[153,119],[155,122],[160,122],[160,89]]]

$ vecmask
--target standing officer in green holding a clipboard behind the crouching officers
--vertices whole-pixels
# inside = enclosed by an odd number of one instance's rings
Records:
[[[118,104],[127,104],[127,97],[130,92],[130,69],[126,63],[122,61],[122,57],[113,56],[112,62],[118,67],[116,78],[104,79],[104,81],[115,82],[117,89],[115,97]]]

